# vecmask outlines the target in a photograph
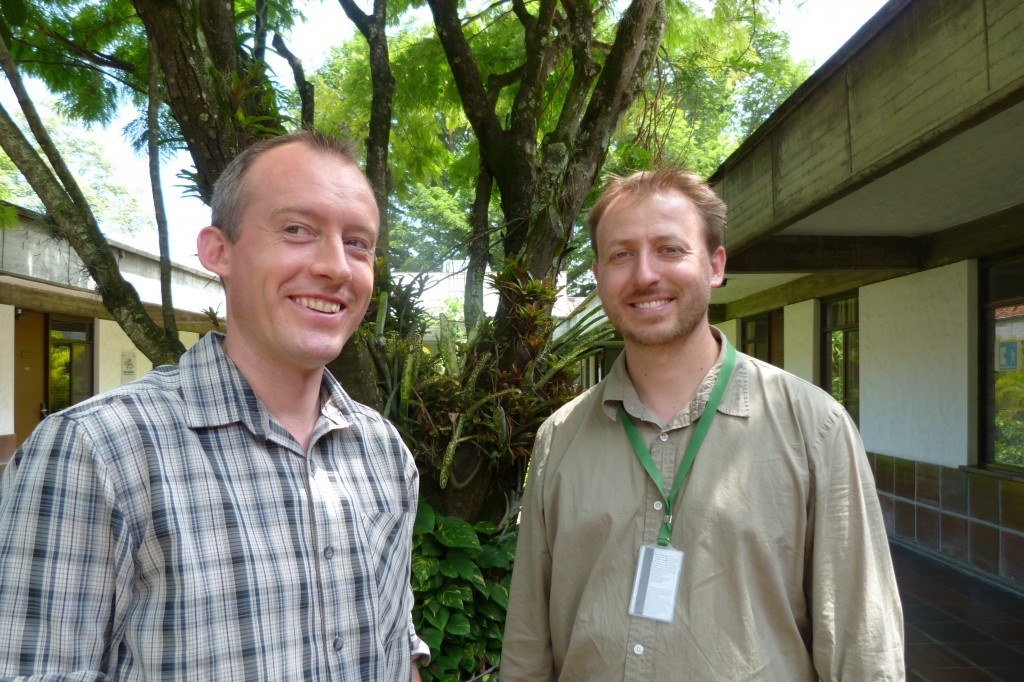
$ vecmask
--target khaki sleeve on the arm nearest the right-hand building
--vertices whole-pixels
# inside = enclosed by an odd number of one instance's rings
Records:
[[[837,409],[812,455],[807,587],[822,680],[902,680],[903,613],[864,446]]]

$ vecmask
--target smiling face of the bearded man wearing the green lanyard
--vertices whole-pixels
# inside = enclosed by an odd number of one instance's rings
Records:
[[[668,347],[707,327],[725,249],[708,253],[700,216],[684,195],[618,197],[601,217],[596,242],[597,292],[627,345]]]

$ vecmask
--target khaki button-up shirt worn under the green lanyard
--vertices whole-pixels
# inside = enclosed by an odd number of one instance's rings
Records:
[[[674,622],[628,614],[639,547],[656,542],[665,512],[617,404],[671,485],[723,356],[669,424],[641,404],[624,354],[541,428],[503,681],[904,678],[902,611],[856,427],[820,389],[738,352],[674,505]]]

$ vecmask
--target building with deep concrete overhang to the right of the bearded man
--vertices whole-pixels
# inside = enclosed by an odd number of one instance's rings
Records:
[[[1019,0],[891,0],[712,178],[713,322],[847,407],[896,542],[1018,588],[1022,178]]]

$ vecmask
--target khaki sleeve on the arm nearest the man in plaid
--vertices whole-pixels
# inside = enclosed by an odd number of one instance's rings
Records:
[[[502,643],[502,682],[556,679],[549,619],[551,552],[544,510],[544,468],[553,430],[550,422],[539,430],[526,475]]]

